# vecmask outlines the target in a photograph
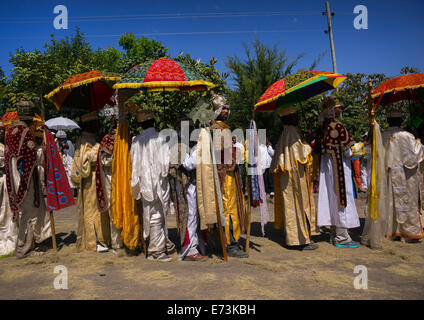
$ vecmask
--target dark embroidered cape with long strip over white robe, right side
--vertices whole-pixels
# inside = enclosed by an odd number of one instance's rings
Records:
[[[346,128],[337,120],[324,123],[321,152],[333,160],[334,182],[340,208],[346,208],[346,181],[343,169],[343,152],[353,146],[354,141]],[[349,183],[349,182],[348,182]]]

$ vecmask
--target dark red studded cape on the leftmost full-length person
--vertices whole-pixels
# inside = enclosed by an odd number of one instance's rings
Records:
[[[22,165],[18,168],[21,176],[18,190],[15,190],[15,187],[12,186],[12,158],[16,158],[18,163],[21,159],[23,160]],[[5,169],[6,186],[10,208],[13,212],[13,221],[18,216],[19,205],[22,204],[29,189],[28,185],[35,168],[36,158],[37,148],[29,128],[22,123],[12,125],[5,137]]]

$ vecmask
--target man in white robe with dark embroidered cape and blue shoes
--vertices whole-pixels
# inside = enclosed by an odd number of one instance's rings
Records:
[[[331,226],[330,243],[336,247],[359,247],[348,229],[359,227],[359,217],[353,197],[351,156],[352,137],[336,118],[341,105],[332,97],[322,104],[321,161],[318,194],[318,226]]]

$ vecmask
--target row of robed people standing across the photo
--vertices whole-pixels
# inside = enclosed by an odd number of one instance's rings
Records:
[[[215,119],[200,128],[197,141],[189,145],[183,139],[169,145],[157,129],[154,112],[139,111],[141,134],[128,141],[131,190],[120,190],[114,178],[116,119],[111,121],[110,133],[98,137],[97,113],[85,114],[75,146],[64,131],[56,132],[54,150],[67,176],[63,183],[73,190],[77,202],[78,248],[106,252],[128,247],[122,235],[128,231],[111,217],[116,201],[112,192],[118,190],[131,193],[137,204],[140,218],[133,219],[130,227],[141,234],[139,247],[144,246],[148,260],[171,261],[176,250],[179,261],[203,260],[217,249],[212,245],[214,237],[226,255],[248,257],[240,242],[248,230],[247,207],[251,205],[245,195],[253,192],[250,180],[244,179],[248,173],[246,145],[226,130],[230,129],[226,123],[230,106],[225,97],[214,95],[210,105]],[[20,121],[12,123],[7,132],[0,125],[0,255],[18,258],[43,254],[40,244],[51,236],[47,214],[51,208],[44,201],[50,189],[48,179],[42,179],[46,139],[42,124],[34,121],[33,106],[28,101],[18,104]],[[339,248],[357,248],[361,243],[372,246],[371,232],[392,240],[420,241],[424,238],[423,145],[401,128],[404,115],[398,110],[387,111],[387,130],[380,134],[378,127],[355,143],[338,120],[342,108],[337,99],[324,98],[320,126],[307,139],[299,130],[295,107],[279,110],[283,131],[275,148],[269,140],[258,148],[257,165],[265,190],[258,193],[262,196],[257,201],[274,202],[274,227],[283,230],[287,246],[299,250],[317,249],[313,238],[324,227],[330,229],[329,242]],[[196,123],[188,121],[191,133]],[[219,130],[222,139],[212,140]],[[180,130],[179,138],[182,134]],[[372,148],[379,145],[378,156],[373,157]],[[229,162],[224,160],[227,154]],[[172,155],[179,160],[170,161]],[[355,197],[370,192],[375,179],[372,170],[384,177],[378,179],[376,199],[384,200],[385,209],[382,212],[382,206],[378,207],[378,218],[367,210],[364,233],[360,241],[354,241],[349,229],[360,226]],[[178,244],[168,236],[167,219],[173,214]]]

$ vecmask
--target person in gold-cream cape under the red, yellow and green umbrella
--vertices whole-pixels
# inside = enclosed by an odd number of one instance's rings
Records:
[[[270,167],[277,188],[275,228],[284,228],[288,246],[314,250],[318,245],[311,236],[320,232],[310,181],[312,148],[301,140],[295,106],[279,109],[278,113],[284,128]]]

